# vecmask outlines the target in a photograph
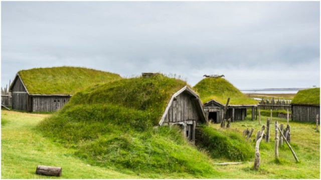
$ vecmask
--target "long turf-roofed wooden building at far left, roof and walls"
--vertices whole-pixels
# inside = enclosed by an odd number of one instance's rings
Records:
[[[20,70],[12,84],[12,108],[57,111],[78,90],[120,79],[120,75],[83,67],[51,67]]]

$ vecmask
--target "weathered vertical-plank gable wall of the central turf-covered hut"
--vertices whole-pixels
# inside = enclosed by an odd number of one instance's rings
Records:
[[[164,122],[182,122],[186,120],[199,120],[196,101],[186,92],[181,93],[173,101]]]

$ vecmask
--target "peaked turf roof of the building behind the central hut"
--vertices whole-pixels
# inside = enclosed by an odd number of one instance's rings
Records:
[[[224,78],[204,78],[193,87],[205,103],[209,100],[216,100],[221,104],[226,104],[230,97],[231,105],[256,105],[258,102],[252,98],[246,97],[239,89],[234,87]]]

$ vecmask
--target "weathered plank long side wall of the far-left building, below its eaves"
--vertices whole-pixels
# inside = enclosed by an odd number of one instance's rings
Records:
[[[35,112],[57,111],[69,101],[69,96],[32,96],[32,109]]]

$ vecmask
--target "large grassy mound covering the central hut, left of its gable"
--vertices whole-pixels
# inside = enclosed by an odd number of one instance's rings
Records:
[[[39,128],[93,165],[203,177],[216,172],[208,156],[189,145],[179,128],[153,128],[171,95],[185,85],[161,74],[95,85]]]

